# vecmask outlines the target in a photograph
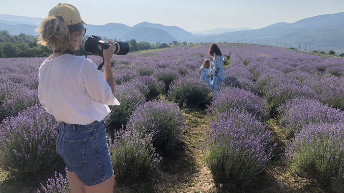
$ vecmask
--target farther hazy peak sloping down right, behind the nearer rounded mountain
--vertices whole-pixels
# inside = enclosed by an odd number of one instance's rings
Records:
[[[184,29],[177,27],[177,26],[165,26],[162,24],[151,24],[148,22],[142,22],[140,24],[136,24],[133,27],[151,27],[151,28],[158,28],[162,29],[173,37],[175,37],[179,41],[184,41],[186,39],[194,38],[195,36],[190,32],[185,31]]]

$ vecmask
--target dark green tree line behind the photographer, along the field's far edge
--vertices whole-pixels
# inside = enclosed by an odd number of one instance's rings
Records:
[[[89,36],[84,36],[82,44],[78,50],[75,51],[76,55],[85,55],[85,41]],[[101,37],[104,41],[117,41],[107,37]],[[46,57],[52,54],[52,50],[46,46],[37,44],[38,36],[27,35],[21,33],[19,35],[11,35],[7,30],[0,30],[0,58],[16,58],[16,57]],[[127,41],[129,43],[129,52],[139,51],[145,49],[156,48],[169,48],[171,46],[184,46],[188,45],[186,41],[178,42],[172,41],[171,43],[156,42],[151,44],[149,42],[137,42],[135,39]],[[193,44],[193,43],[189,43]]]

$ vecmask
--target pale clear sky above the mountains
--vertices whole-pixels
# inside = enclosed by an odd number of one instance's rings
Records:
[[[149,22],[190,32],[258,29],[344,12],[344,0],[0,0],[0,14],[45,18],[60,2],[76,6],[86,24]]]

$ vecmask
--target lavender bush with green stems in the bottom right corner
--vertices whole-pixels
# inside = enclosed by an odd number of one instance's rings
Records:
[[[286,158],[293,175],[316,177],[344,191],[344,124],[311,124],[287,143]]]

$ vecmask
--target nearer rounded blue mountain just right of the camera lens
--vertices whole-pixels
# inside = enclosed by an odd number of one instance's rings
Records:
[[[128,32],[123,34],[120,39],[135,39],[137,42],[145,41],[149,43],[155,43],[157,41],[161,43],[170,43],[177,40],[170,33],[162,29],[139,26],[132,27]]]

